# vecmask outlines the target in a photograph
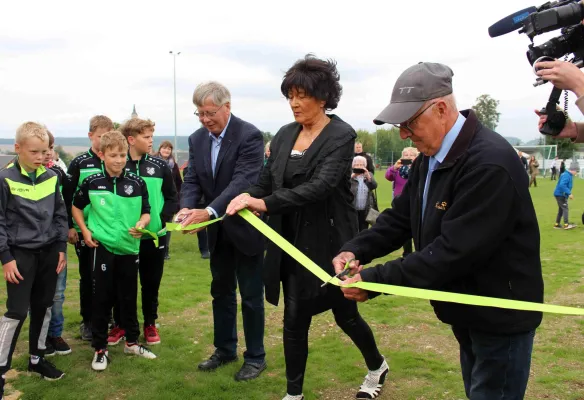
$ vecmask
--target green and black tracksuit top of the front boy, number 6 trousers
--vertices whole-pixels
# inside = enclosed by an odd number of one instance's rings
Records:
[[[89,208],[87,228],[100,246],[113,254],[129,255],[140,252],[140,239],[129,232],[142,214],[150,213],[146,182],[124,171],[111,177],[107,171],[90,175],[81,184],[73,199],[81,210]]]

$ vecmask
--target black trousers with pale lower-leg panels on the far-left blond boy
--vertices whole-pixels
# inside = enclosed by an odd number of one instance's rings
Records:
[[[16,341],[29,308],[28,351],[39,357],[45,354],[59,263],[59,253],[52,245],[42,250],[13,247],[10,251],[24,280],[18,284],[6,282],[7,311],[0,319],[0,375],[11,367]]]

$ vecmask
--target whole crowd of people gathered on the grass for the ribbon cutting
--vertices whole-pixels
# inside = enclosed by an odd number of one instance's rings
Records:
[[[513,147],[473,110],[458,110],[453,76],[443,64],[411,66],[375,118],[396,126],[415,146],[405,148],[385,174],[394,184],[392,207],[385,210],[377,205],[373,161],[356,143],[353,127],[331,112],[342,96],[336,63],[312,55],[283,77],[280,91],[293,122],[267,146],[255,125],[232,113],[224,85],[198,85],[192,100],[201,127],[189,137],[183,180],[171,143],[151,155],[155,125],[148,119],[132,118],[114,130],[108,117],[93,117],[91,147],[67,172],[52,161],[54,138],[47,128],[22,124],[15,136],[18,156],[0,171],[0,260],[8,289],[0,320],[0,395],[29,310],[29,371],[48,380],[64,375],[46,357],[71,352],[62,339],[67,243],[79,259],[80,336],[94,348],[91,368],[104,371],[108,346],[124,339],[124,353],[156,358],[147,346],[162,342],[156,320],[169,221],[198,234],[202,255],[210,258],[215,350],[199,370],[238,360],[239,287],[245,351],[234,378],[259,377],[268,368],[264,298],[278,305],[282,289],[284,400],[304,399],[309,328],[313,316],[328,310],[367,368],[356,398],[377,398],[388,381],[388,354],[358,309],[358,302],[377,293],[346,284],[543,302],[539,229],[529,193],[535,174],[528,178]],[[567,129],[565,135],[573,135],[575,128]],[[560,174],[554,193],[557,226],[560,217],[569,224],[563,201],[572,196],[573,173]],[[340,287],[323,284],[266,242],[237,214],[242,209],[267,216],[275,232],[329,275],[348,266],[350,276]],[[186,228],[218,218],[207,228]],[[155,233],[158,246],[145,229]],[[401,257],[363,268],[402,247]],[[523,398],[542,314],[431,303],[459,343],[467,397]]]

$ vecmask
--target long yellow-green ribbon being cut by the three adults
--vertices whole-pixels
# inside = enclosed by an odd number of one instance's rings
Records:
[[[288,255],[296,260],[300,265],[316,275],[320,280],[323,282],[329,282],[336,286],[356,287],[371,292],[392,294],[402,297],[412,297],[416,299],[467,304],[470,306],[497,307],[521,311],[539,311],[553,314],[584,315],[584,308],[556,306],[553,304],[541,304],[528,301],[500,299],[496,297],[484,297],[470,294],[441,292],[437,290],[416,289],[405,286],[395,286],[371,282],[356,282],[348,285],[341,285],[341,280],[335,277],[331,277],[326,271],[316,265],[310,258],[306,257],[300,250],[298,250],[290,242],[280,236],[276,231],[266,225],[251,211],[243,209],[239,211],[239,215],[247,222],[249,222],[255,229],[260,231],[264,236],[274,242],[276,246],[280,247],[283,251],[288,253]],[[201,224],[189,225],[184,228],[181,228],[180,224],[166,224],[166,226],[169,230],[192,230],[211,225],[222,219],[223,217],[212,221],[203,222]],[[173,228],[169,227],[169,225],[172,225]]]

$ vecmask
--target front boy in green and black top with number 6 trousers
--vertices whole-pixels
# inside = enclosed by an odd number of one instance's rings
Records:
[[[91,367],[103,371],[108,364],[107,328],[114,298],[126,329],[124,353],[149,359],[156,356],[138,343],[136,313],[142,236],[138,229],[144,229],[150,222],[148,189],[142,178],[125,170],[128,143],[120,132],[103,135],[98,154],[103,172],[85,178],[75,194],[71,212],[91,249],[94,290],[91,326],[95,349]],[[86,224],[83,210],[88,206],[91,207]]]

